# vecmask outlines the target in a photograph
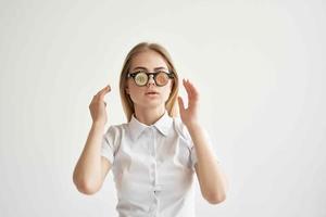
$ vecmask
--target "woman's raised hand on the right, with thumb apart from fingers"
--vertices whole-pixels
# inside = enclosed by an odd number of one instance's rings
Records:
[[[183,123],[189,127],[190,125],[198,124],[199,92],[188,79],[183,79],[183,85],[188,94],[188,107],[185,108],[181,97],[178,97],[178,104],[180,118]]]

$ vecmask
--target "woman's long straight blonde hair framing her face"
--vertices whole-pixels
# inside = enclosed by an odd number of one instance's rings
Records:
[[[168,54],[168,52],[159,43],[149,43],[149,42],[140,42],[136,44],[127,54],[123,68],[120,76],[120,95],[122,105],[125,112],[125,115],[127,117],[127,120],[130,122],[131,115],[135,113],[134,102],[131,101],[129,94],[126,92],[126,82],[127,82],[127,75],[130,69],[131,60],[134,56],[136,56],[138,53],[143,51],[155,51],[159,54],[162,55],[162,58],[165,60],[166,65],[168,67],[168,71],[174,75],[174,81],[172,91],[170,93],[170,97],[167,101],[165,102],[165,108],[171,117],[175,117],[178,114],[178,106],[177,106],[177,97],[178,97],[178,75],[174,67],[174,64],[172,62],[172,59]]]

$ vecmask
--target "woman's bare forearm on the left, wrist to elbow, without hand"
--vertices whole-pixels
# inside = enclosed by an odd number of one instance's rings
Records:
[[[103,124],[93,123],[83,153],[74,170],[74,183],[79,189],[97,187],[101,181],[101,141]]]

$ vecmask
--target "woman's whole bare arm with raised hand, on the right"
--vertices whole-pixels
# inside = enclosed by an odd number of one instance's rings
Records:
[[[206,201],[217,204],[226,199],[227,179],[198,120],[199,92],[189,80],[183,79],[183,85],[188,94],[188,107],[185,108],[183,99],[178,97],[180,118],[188,128],[196,149],[198,162],[195,169],[200,190]]]

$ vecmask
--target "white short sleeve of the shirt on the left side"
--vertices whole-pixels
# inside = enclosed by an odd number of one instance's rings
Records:
[[[118,138],[118,130],[115,126],[110,126],[102,136],[101,156],[108,158],[113,164]]]

